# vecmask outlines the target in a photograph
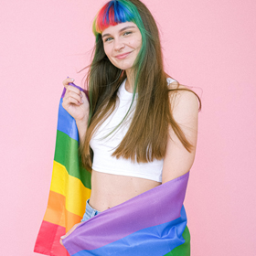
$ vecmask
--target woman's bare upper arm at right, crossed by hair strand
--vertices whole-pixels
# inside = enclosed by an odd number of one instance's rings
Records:
[[[172,99],[172,98],[171,98]],[[179,141],[176,133],[169,127],[166,154],[163,166],[162,183],[186,174],[194,163],[197,146],[197,96],[190,91],[178,91],[172,99],[173,116],[193,145],[191,153]]]

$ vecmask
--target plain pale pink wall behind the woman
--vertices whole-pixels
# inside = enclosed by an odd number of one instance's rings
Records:
[[[77,70],[89,63],[91,23],[104,2],[1,1],[1,255],[38,255],[61,82],[81,84]],[[192,255],[256,255],[256,2],[144,3],[161,30],[166,70],[201,89],[185,203]]]

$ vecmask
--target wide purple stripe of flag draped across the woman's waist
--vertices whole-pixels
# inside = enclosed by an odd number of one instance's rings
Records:
[[[71,255],[180,217],[189,172],[82,222],[63,244]],[[99,239],[100,238],[100,239]]]

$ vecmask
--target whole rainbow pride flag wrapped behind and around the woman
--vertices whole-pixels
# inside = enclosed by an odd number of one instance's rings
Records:
[[[81,90],[81,89],[80,89]],[[51,256],[189,256],[183,206],[189,172],[79,223],[91,195],[91,175],[80,167],[74,119],[59,103],[59,122],[48,208],[35,251]],[[69,251],[69,252],[68,252]]]

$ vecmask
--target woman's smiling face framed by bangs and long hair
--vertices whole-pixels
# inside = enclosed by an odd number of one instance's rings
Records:
[[[142,48],[139,28],[133,22],[124,22],[106,28],[101,37],[104,51],[112,64],[126,71],[131,69]]]

